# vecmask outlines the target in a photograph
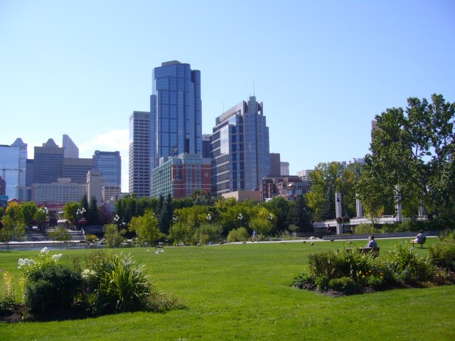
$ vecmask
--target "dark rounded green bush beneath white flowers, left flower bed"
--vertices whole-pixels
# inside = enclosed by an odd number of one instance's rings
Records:
[[[24,286],[24,303],[31,313],[45,314],[53,309],[69,308],[80,291],[80,273],[57,264],[33,274]]]

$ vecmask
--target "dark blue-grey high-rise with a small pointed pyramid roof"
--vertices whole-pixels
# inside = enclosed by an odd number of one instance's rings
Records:
[[[35,147],[33,162],[33,183],[57,183],[63,175],[63,148],[60,148],[53,139]]]

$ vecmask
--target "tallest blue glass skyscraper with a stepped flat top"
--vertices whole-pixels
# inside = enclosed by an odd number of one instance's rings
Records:
[[[202,153],[200,71],[176,60],[155,67],[150,116],[152,169],[161,157]]]

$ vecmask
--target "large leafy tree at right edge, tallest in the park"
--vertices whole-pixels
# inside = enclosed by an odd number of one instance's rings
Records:
[[[373,131],[365,178],[388,197],[398,185],[408,215],[423,207],[430,220],[450,216],[455,201],[455,103],[446,103],[441,94],[433,94],[431,103],[410,97],[405,110],[386,109],[375,118],[378,129]],[[367,201],[371,193],[360,186],[358,190],[362,202]]]

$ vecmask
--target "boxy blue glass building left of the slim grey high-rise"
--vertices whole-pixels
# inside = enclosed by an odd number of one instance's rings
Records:
[[[122,185],[122,158],[119,151],[95,151],[93,169],[100,171],[102,186]]]

